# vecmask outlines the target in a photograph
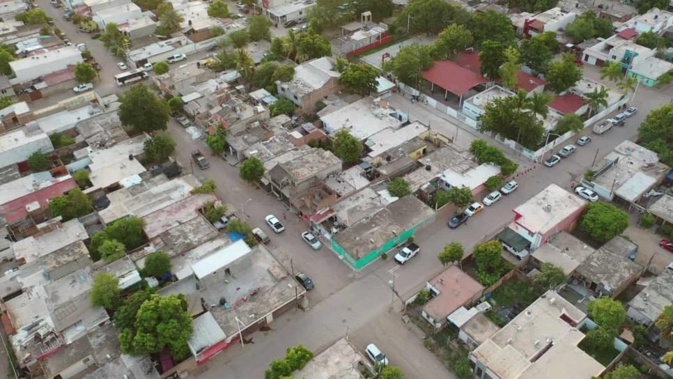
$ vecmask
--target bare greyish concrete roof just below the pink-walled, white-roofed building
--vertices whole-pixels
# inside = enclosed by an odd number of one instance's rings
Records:
[[[596,251],[571,233],[562,231],[553,240],[538,247],[533,256],[542,263],[550,263],[568,275]]]

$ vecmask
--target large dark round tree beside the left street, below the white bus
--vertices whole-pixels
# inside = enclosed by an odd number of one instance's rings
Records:
[[[123,125],[137,132],[166,130],[171,113],[169,106],[143,84],[136,84],[123,93],[120,102],[118,114]]]

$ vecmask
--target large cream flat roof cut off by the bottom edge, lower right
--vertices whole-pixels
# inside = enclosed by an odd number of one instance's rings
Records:
[[[598,376],[605,366],[578,348],[585,334],[576,326],[585,318],[559,294],[547,291],[472,355],[500,379]]]

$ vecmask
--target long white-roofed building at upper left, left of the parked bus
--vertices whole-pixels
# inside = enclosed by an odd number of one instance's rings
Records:
[[[82,52],[75,46],[65,46],[26,56],[24,59],[9,63],[10,68],[12,68],[12,71],[16,75],[15,78],[10,79],[10,83],[22,84],[30,82],[42,75],[65,70],[69,65],[76,65],[82,61],[84,61],[82,59]]]

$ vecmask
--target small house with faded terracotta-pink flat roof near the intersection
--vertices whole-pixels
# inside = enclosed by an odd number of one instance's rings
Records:
[[[423,311],[440,323],[444,323],[456,309],[480,297],[484,291],[484,286],[454,265],[430,279],[428,284],[439,294],[423,306]]]

